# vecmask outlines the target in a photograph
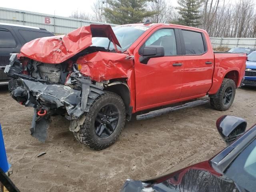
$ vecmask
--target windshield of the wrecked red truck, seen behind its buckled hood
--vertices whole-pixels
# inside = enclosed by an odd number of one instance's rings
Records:
[[[149,26],[116,26],[112,28],[121,47],[117,46],[118,50],[126,51],[138,39]],[[104,37],[93,37],[92,46],[108,48],[109,39]],[[114,50],[114,45],[111,42],[109,50]]]

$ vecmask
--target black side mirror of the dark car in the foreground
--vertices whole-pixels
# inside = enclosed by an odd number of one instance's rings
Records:
[[[246,125],[246,120],[231,115],[221,116],[216,121],[217,130],[227,145],[230,145],[245,132]]]

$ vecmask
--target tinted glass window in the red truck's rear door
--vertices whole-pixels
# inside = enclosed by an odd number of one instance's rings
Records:
[[[182,35],[185,42],[186,55],[203,54],[206,51],[201,33],[182,30]]]

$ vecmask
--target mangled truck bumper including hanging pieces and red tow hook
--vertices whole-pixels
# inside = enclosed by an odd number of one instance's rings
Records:
[[[12,98],[24,106],[34,108],[30,128],[32,136],[44,142],[52,114],[62,114],[70,122],[70,131],[78,131],[84,114],[89,111],[93,101],[102,94],[103,86],[96,86],[90,79],[78,79],[80,89],[61,84],[46,84],[31,80],[12,79],[9,91]],[[38,111],[43,111],[41,113]]]

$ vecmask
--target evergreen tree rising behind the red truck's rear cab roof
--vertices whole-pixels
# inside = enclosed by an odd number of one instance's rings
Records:
[[[197,27],[200,25],[200,12],[199,8],[202,5],[203,0],[178,0],[177,7],[181,18],[178,20],[178,24]]]

